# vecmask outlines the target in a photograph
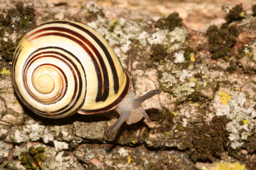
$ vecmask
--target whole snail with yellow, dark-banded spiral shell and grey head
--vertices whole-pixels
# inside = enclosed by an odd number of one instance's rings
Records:
[[[114,109],[121,124],[143,117],[141,103],[160,94],[141,97],[130,90],[130,79],[108,42],[92,28],[73,21],[55,20],[31,29],[15,50],[11,74],[20,100],[33,112],[62,118],[76,112],[94,114]]]

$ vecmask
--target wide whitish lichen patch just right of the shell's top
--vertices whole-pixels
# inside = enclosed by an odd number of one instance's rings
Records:
[[[108,20],[97,16],[97,20],[88,22],[88,26],[96,29],[110,44],[110,46],[119,46],[122,52],[127,52],[133,40],[138,40],[139,46],[146,46],[148,43],[152,44],[166,44],[169,51],[174,51],[182,48],[186,40],[187,31],[185,28],[175,27],[173,31],[169,29],[160,29],[154,32],[151,36],[144,27],[148,24],[144,22],[135,22],[120,18],[119,20]],[[110,31],[106,28],[113,27]]]

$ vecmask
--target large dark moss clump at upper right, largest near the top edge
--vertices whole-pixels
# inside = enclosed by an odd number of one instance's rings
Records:
[[[223,58],[228,60],[232,56],[232,47],[236,43],[238,29],[235,26],[228,27],[228,24],[222,24],[220,29],[212,25],[207,30],[210,49],[213,59]]]

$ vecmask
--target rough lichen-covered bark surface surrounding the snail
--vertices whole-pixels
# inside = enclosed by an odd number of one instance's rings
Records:
[[[38,162],[62,170],[255,169],[253,10],[238,4],[228,9],[228,23],[197,32],[177,13],[153,20],[93,4],[0,1],[0,169],[39,169]],[[162,90],[143,103],[151,124],[124,123],[108,136],[114,111],[48,119],[20,103],[11,82],[13,52],[26,31],[55,19],[87,24],[104,36],[136,95]]]

